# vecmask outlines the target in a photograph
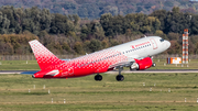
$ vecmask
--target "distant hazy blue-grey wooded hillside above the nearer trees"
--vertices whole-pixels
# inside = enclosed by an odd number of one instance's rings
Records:
[[[1,5],[14,8],[48,8],[52,13],[78,14],[80,18],[97,19],[101,14],[127,15],[129,13],[150,14],[155,10],[172,10],[179,5],[183,12],[198,12],[198,3],[193,0],[0,0]],[[184,9],[185,8],[185,9]]]

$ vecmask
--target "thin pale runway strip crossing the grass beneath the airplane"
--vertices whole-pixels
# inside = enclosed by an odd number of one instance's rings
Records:
[[[0,70],[0,74],[26,74],[32,75],[38,70]],[[145,73],[198,73],[198,69],[146,69],[146,70],[122,70],[122,74],[145,74]],[[107,71],[106,74],[118,74],[118,70]]]

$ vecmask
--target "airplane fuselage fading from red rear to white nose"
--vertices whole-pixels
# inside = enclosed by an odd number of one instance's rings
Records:
[[[70,78],[106,73],[118,66],[129,66],[135,59],[162,53],[169,45],[168,41],[158,36],[143,37],[70,60],[58,62],[58,64],[47,66],[45,69],[36,73],[37,75],[35,74],[34,77]]]

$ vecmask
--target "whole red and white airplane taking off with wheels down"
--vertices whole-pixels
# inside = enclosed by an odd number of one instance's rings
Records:
[[[109,47],[91,54],[73,58],[59,59],[37,40],[29,42],[37,64],[40,71],[32,75],[33,78],[75,78],[94,75],[95,80],[102,80],[101,73],[113,69],[119,70],[116,77],[118,81],[124,80],[121,75],[123,67],[130,67],[131,70],[143,70],[152,66],[153,55],[166,51],[170,43],[160,36],[145,36],[135,41],[131,41],[121,45]]]

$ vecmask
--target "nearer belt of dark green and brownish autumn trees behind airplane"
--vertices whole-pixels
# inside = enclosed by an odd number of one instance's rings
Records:
[[[151,14],[105,13],[99,19],[51,13],[47,9],[0,8],[0,54],[31,54],[28,44],[40,40],[55,54],[86,54],[122,44],[143,35],[169,40],[166,54],[182,54],[182,34],[189,29],[189,53],[198,53],[198,14],[156,10]]]

